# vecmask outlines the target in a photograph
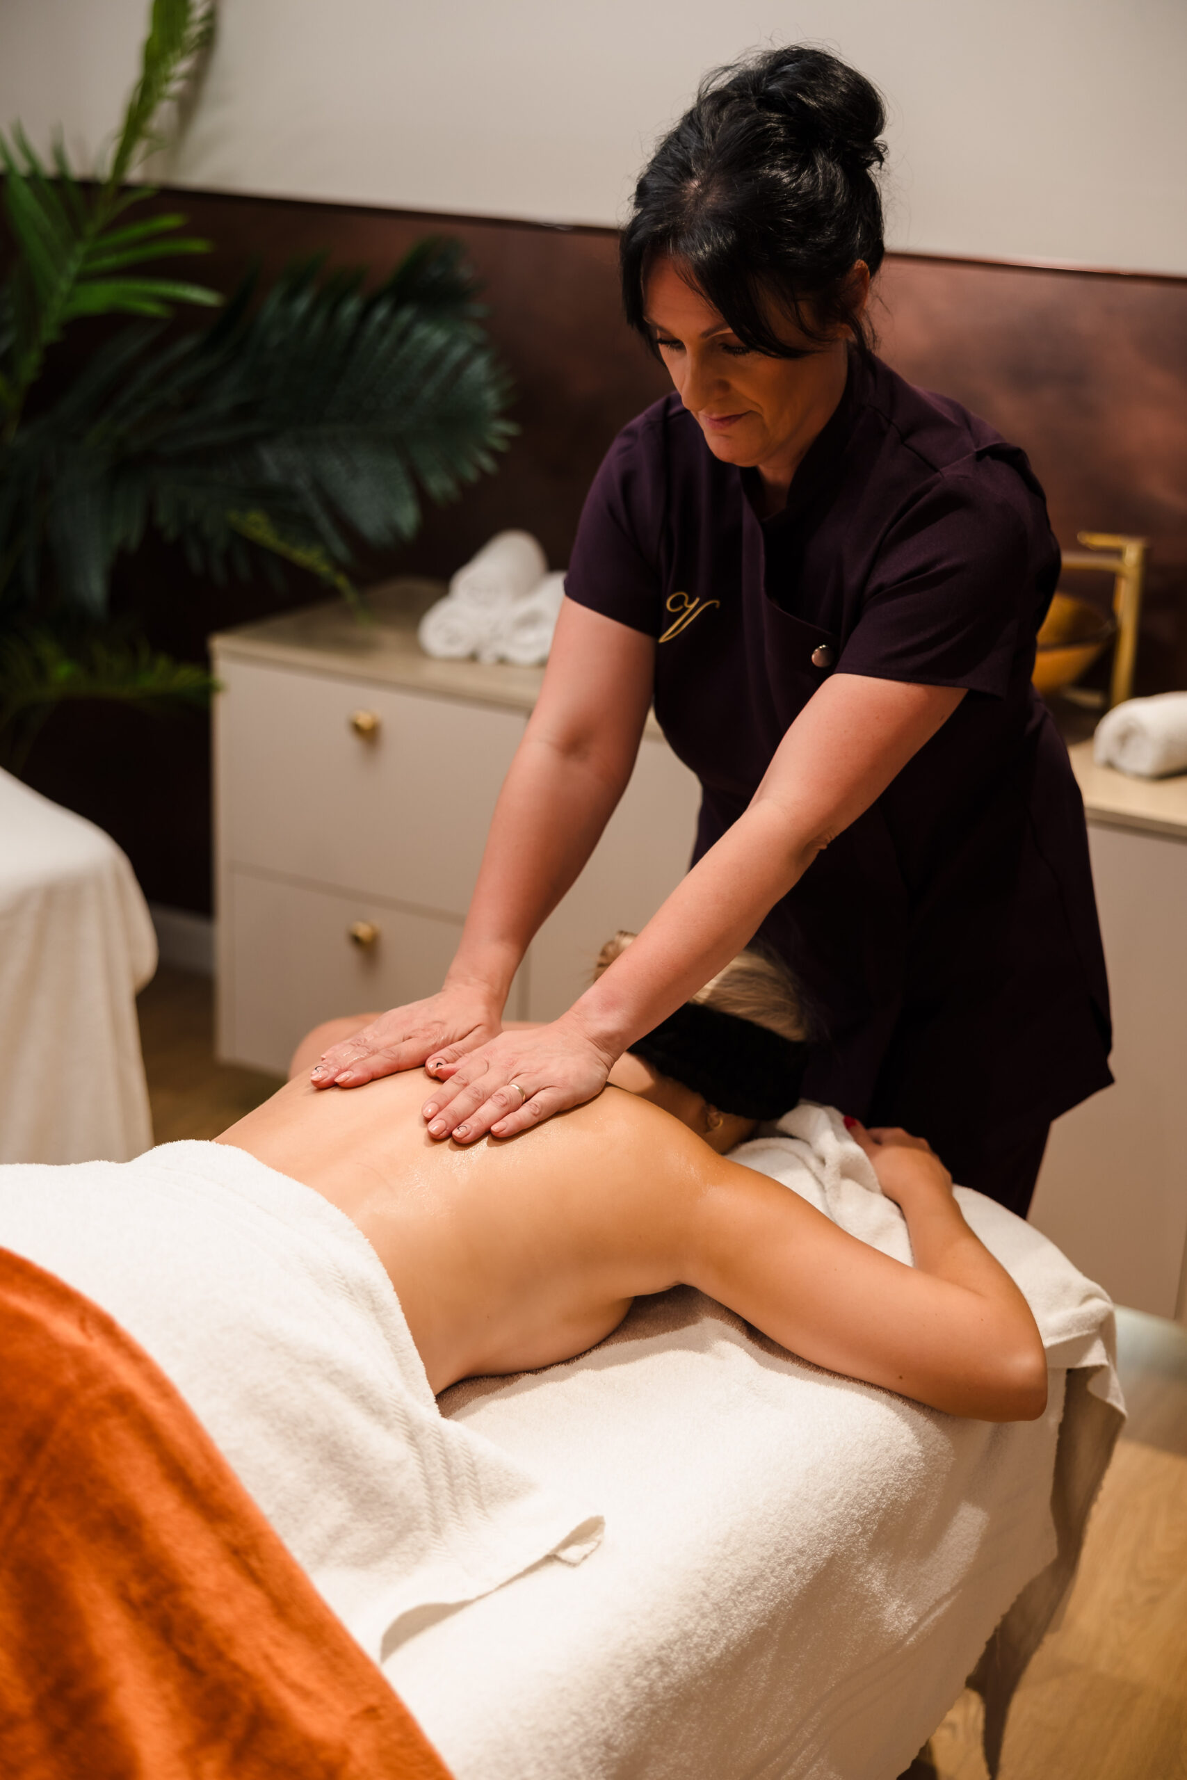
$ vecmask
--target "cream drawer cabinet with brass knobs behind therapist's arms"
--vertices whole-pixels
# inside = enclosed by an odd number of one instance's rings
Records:
[[[420,602],[424,603],[424,600]],[[214,639],[219,1056],[283,1072],[319,1020],[432,993],[541,669],[431,662],[400,587]],[[507,1002],[546,1020],[687,869],[698,785],[653,724],[585,872]],[[359,943],[363,942],[363,943]]]

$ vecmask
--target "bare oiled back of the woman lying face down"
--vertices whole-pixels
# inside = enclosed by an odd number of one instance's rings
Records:
[[[696,1194],[723,1164],[667,1112],[610,1088],[523,1137],[463,1148],[425,1134],[424,1095],[420,1072],[349,1095],[301,1073],[219,1141],[359,1226],[434,1390],[582,1353],[632,1298],[682,1278],[682,1184]]]

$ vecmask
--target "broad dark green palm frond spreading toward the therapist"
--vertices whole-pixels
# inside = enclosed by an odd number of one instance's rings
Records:
[[[347,577],[356,539],[411,538],[422,502],[454,498],[514,431],[475,313],[457,244],[436,240],[370,295],[308,263],[206,333],[128,329],[9,447],[0,600],[27,605],[52,566],[98,618],[149,525],[219,577],[258,550]]]

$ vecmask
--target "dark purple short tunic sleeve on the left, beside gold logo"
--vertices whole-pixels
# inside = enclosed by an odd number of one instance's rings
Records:
[[[658,433],[662,418],[651,408],[623,427],[610,445],[585,497],[564,577],[564,591],[577,605],[650,637],[658,637],[664,628],[660,541],[666,477]]]

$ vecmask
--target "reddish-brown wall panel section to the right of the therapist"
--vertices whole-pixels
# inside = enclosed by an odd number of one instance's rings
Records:
[[[895,255],[877,320],[895,370],[1025,447],[1064,546],[1150,539],[1139,691],[1187,685],[1187,279]]]

